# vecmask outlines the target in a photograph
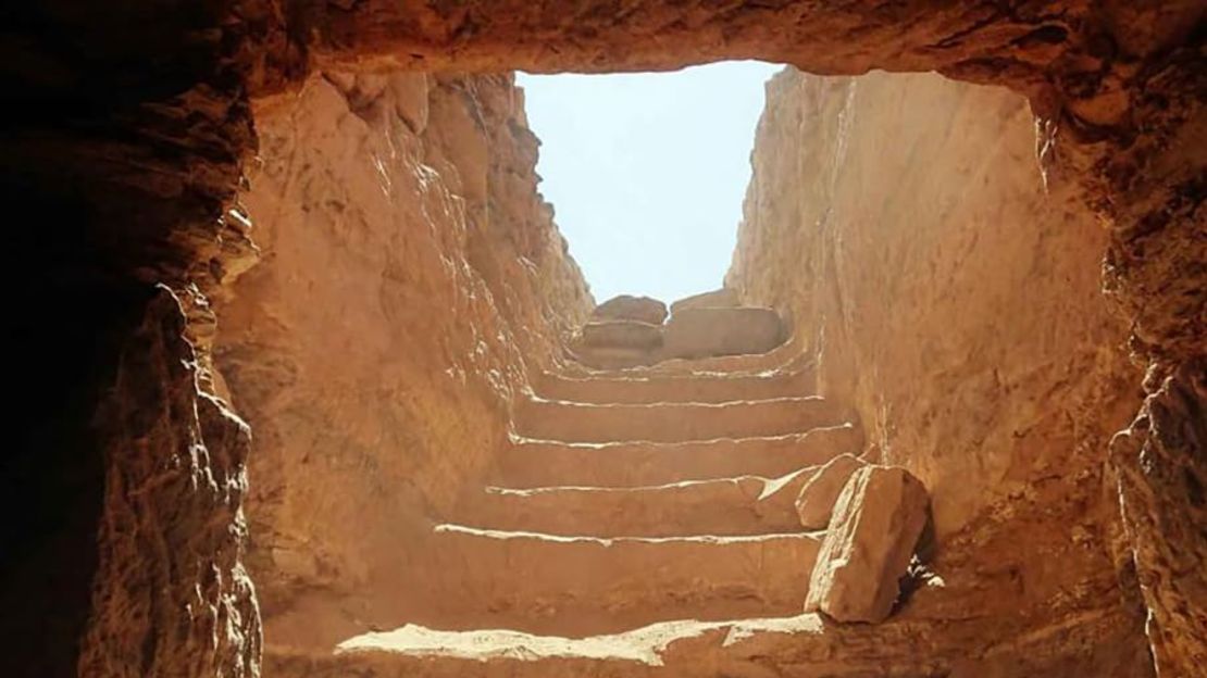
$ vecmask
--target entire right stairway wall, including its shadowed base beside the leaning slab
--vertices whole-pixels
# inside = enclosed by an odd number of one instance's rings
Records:
[[[929,491],[934,577],[896,624],[987,643],[969,674],[1151,676],[1106,463],[1141,374],[1101,292],[1107,229],[1044,142],[1005,89],[788,69],[727,286],[789,318],[869,458]]]

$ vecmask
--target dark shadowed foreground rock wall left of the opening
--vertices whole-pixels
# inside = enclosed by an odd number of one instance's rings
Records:
[[[264,27],[234,16],[252,4],[0,11],[5,676],[258,667],[238,492],[194,483],[239,475],[237,437],[206,419],[185,308],[157,287],[199,300],[243,256],[225,212],[255,144],[244,83]],[[210,604],[234,636],[215,638]]]

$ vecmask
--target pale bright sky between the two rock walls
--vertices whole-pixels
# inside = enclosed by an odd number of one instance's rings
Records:
[[[537,174],[596,302],[670,303],[721,287],[734,251],[763,83],[780,66],[519,75]]]

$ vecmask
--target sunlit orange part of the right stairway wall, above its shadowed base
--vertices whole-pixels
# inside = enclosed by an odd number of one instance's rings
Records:
[[[1139,374],[1100,291],[1108,234],[1042,171],[1022,98],[787,69],[752,164],[727,285],[791,317],[821,392],[926,483],[940,537],[1051,483],[1108,491]]]

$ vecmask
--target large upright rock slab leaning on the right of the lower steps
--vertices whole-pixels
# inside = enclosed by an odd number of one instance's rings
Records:
[[[929,498],[904,468],[868,466],[847,480],[809,580],[805,612],[880,623],[926,526]]]

